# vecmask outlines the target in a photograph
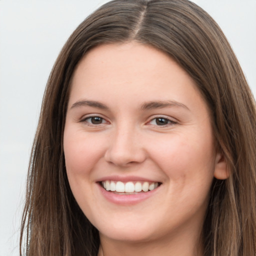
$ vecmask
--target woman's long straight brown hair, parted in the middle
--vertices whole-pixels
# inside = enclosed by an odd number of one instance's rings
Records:
[[[63,155],[70,80],[86,52],[138,41],[172,57],[196,82],[212,114],[229,178],[214,179],[202,242],[206,256],[255,255],[255,101],[214,20],[188,0],[113,0],[88,16],[63,46],[44,92],[27,178],[20,255],[97,255],[98,231],[71,193]]]

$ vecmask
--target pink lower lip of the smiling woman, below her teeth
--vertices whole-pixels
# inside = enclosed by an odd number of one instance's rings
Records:
[[[151,191],[137,193],[137,194],[116,194],[111,191],[106,191],[100,184],[98,184],[98,187],[100,189],[100,192],[108,201],[116,204],[129,205],[129,204],[139,203],[153,196],[158,191],[160,186],[158,186],[157,188]]]

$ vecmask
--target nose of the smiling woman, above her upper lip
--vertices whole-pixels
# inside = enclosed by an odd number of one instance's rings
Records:
[[[119,128],[109,138],[109,146],[104,158],[117,166],[129,166],[141,163],[146,158],[146,151],[141,143],[139,132],[132,128]]]

